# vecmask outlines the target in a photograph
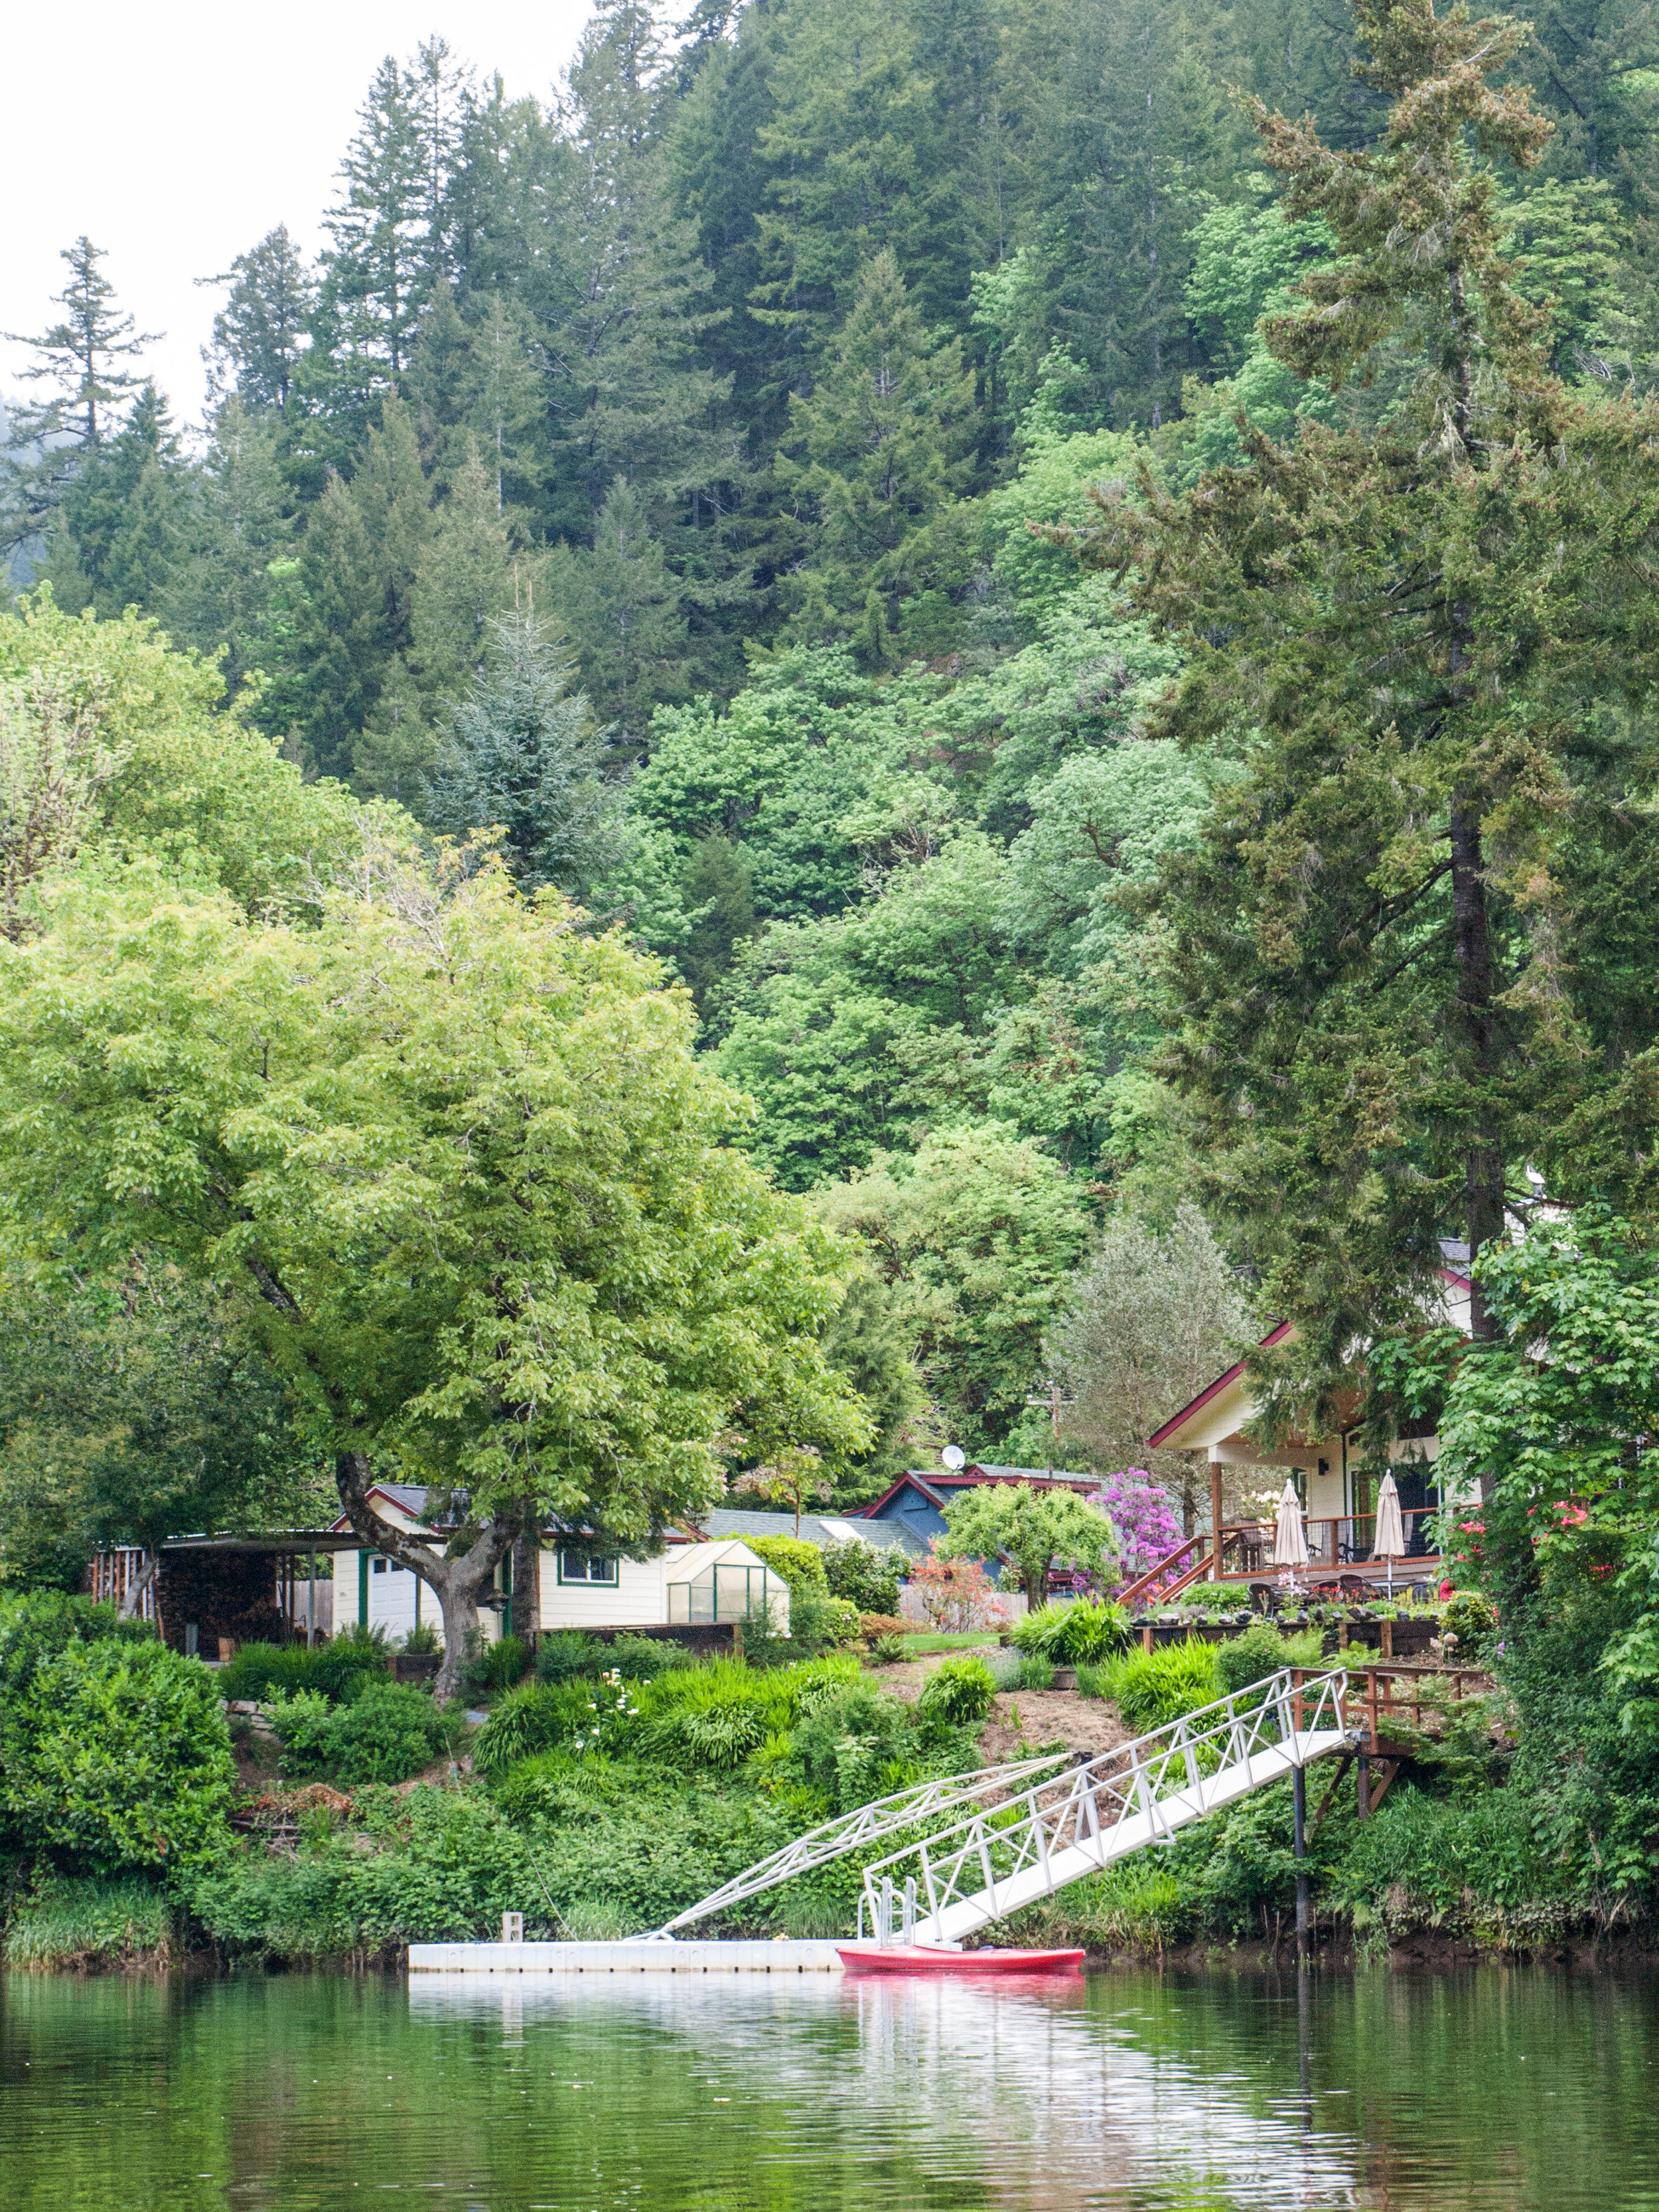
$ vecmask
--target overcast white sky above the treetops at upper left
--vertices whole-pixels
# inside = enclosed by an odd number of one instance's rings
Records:
[[[201,345],[230,268],[274,223],[314,250],[374,64],[434,31],[509,93],[549,97],[586,0],[288,0],[283,9],[86,0],[7,11],[7,212],[0,332],[46,330],[58,250],[82,230],[104,274],[166,332],[146,354],[179,420],[201,407]],[[0,394],[27,361],[0,341]]]

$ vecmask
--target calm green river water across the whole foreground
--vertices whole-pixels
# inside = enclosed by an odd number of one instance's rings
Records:
[[[1659,2208],[1659,1978],[0,1989],[7,2212]]]

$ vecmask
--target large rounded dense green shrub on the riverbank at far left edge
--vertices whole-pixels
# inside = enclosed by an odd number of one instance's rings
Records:
[[[84,1619],[55,1650],[64,1615],[7,1624],[0,1838],[91,1874],[210,1858],[232,1785],[212,1677],[153,1635],[84,1641]]]

